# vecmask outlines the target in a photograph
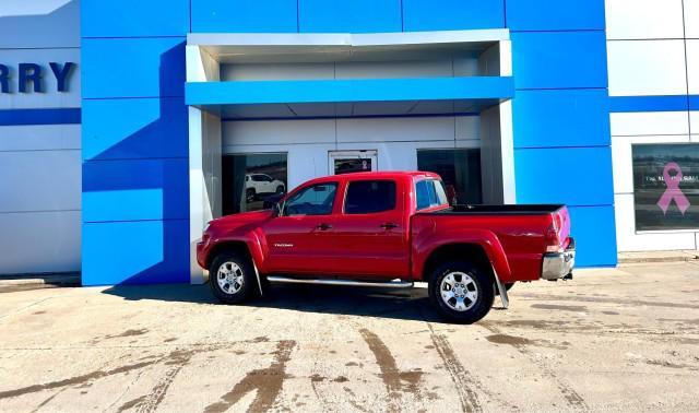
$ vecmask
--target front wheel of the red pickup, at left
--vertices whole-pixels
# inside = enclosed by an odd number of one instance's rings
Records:
[[[209,284],[214,296],[225,304],[244,303],[258,291],[257,276],[250,259],[229,251],[214,258],[209,270]]]

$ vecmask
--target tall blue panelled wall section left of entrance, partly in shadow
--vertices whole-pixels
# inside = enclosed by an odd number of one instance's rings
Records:
[[[83,0],[85,285],[189,282],[189,0]]]

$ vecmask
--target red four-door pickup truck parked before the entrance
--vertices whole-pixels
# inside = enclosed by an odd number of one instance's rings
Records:
[[[475,322],[517,281],[570,278],[564,205],[450,206],[440,177],[357,173],[312,179],[271,210],[209,223],[197,245],[214,295],[228,304],[269,282],[412,287],[439,312]]]

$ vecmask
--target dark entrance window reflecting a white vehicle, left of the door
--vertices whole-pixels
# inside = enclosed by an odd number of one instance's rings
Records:
[[[223,214],[271,208],[286,193],[286,158],[285,153],[224,155]]]

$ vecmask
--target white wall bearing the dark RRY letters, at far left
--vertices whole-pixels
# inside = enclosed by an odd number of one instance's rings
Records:
[[[3,5],[0,63],[12,82],[0,110],[80,107],[79,27],[79,0]],[[78,64],[68,92],[56,92],[50,61]],[[43,67],[44,93],[17,93],[21,62]],[[0,126],[0,274],[80,271],[80,125]]]

